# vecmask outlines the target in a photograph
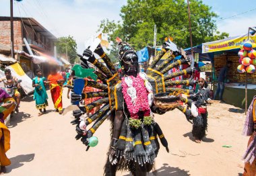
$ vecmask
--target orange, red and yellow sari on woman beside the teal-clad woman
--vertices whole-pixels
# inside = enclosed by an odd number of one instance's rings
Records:
[[[62,111],[62,84],[58,84],[57,81],[63,79],[63,77],[56,73],[55,75],[49,75],[48,81],[50,83],[51,96],[55,109]]]

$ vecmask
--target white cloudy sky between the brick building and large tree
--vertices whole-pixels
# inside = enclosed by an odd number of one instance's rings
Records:
[[[33,17],[57,37],[73,36],[77,52],[81,53],[84,42],[96,33],[102,19],[120,19],[124,4],[125,0],[24,0],[13,4],[13,14]],[[9,1],[1,2],[0,15],[9,16]]]

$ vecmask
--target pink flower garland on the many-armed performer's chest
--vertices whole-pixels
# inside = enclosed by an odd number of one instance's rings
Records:
[[[144,112],[144,116],[150,115],[150,105],[148,104],[148,92],[144,85],[143,79],[139,75],[137,77],[130,76],[133,80],[133,87],[136,89],[137,98],[135,99],[135,103],[131,102],[131,97],[127,93],[127,89],[129,88],[125,83],[125,77],[122,78],[122,93],[123,98],[125,99],[125,103],[127,104],[127,108],[129,113],[131,114],[131,118],[137,119],[139,116],[137,113],[139,109]]]

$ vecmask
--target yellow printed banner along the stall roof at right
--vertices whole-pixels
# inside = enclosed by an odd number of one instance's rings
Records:
[[[225,38],[223,40],[218,40],[214,42],[203,43],[202,52],[216,52],[222,50],[233,50],[240,48],[241,44],[245,42],[248,38],[248,34],[243,34],[242,36],[235,36],[230,38]],[[256,34],[253,36],[250,35],[249,40],[251,42],[256,41]]]

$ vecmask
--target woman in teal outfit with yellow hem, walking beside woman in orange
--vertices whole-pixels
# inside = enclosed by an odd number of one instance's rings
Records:
[[[36,109],[39,109],[38,116],[42,116],[44,109],[44,113],[46,112],[46,106],[48,106],[48,95],[46,93],[46,89],[44,84],[46,83],[45,77],[42,77],[42,71],[38,69],[36,71],[36,77],[32,80],[32,87],[34,88],[34,100],[36,100]]]

